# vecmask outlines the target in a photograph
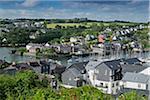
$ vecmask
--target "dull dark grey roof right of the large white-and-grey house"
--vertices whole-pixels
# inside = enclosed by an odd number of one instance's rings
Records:
[[[142,66],[142,65],[135,65],[135,64],[123,64],[121,65],[122,67],[122,72],[123,73],[126,73],[126,72],[141,72],[143,71],[144,69],[146,69],[147,67],[146,66]]]

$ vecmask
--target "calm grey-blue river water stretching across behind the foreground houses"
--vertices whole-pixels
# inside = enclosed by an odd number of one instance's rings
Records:
[[[32,60],[35,60],[36,58],[35,57],[30,57],[30,56],[20,56],[20,55],[17,55],[17,54],[11,54],[11,50],[13,50],[13,48],[8,48],[8,47],[0,47],[0,59],[2,60],[6,60],[7,62],[26,62],[26,61],[32,61]],[[119,56],[119,57],[118,57]],[[129,57],[128,54],[126,55],[112,55],[111,57],[113,58],[124,58],[124,57]],[[130,55],[131,56],[131,55]],[[147,52],[147,53],[143,53],[143,54],[132,54],[131,57],[143,57],[143,58],[147,58],[147,57],[150,57],[150,52]],[[67,65],[67,60],[70,59],[68,57],[61,57],[61,58],[57,58],[55,60],[57,61],[60,61],[61,64],[63,65]],[[96,55],[91,55],[91,56],[88,56],[88,57],[79,57],[79,60],[80,61],[83,61],[83,60],[89,60],[89,59],[101,59],[100,56],[96,56]]]

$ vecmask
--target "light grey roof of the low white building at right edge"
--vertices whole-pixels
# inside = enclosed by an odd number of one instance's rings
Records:
[[[150,79],[150,76],[148,76],[148,75],[127,72],[127,73],[125,73],[122,80],[147,84],[149,79]]]

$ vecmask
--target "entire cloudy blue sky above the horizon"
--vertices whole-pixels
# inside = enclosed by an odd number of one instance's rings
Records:
[[[0,18],[147,22],[149,0],[0,0]]]

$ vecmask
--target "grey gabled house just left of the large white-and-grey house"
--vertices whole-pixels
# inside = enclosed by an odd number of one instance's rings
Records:
[[[88,62],[74,63],[62,73],[62,83],[65,87],[79,87],[87,82],[85,66]]]

